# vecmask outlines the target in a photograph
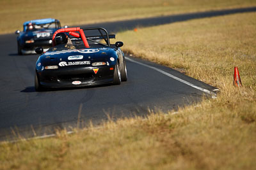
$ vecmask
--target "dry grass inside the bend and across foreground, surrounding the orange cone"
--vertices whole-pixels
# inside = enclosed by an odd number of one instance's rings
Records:
[[[124,50],[185,69],[220,88],[218,98],[178,114],[1,143],[0,169],[255,169],[255,21],[244,13],[121,32]],[[232,85],[234,66],[242,88]]]

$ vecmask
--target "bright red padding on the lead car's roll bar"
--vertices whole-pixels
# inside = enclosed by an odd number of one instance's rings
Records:
[[[75,31],[79,31],[80,34],[75,32]],[[90,48],[90,46],[88,44],[88,41],[86,39],[86,36],[84,35],[84,31],[83,31],[83,29],[80,29],[80,27],[58,29],[57,31],[55,31],[53,36],[52,36],[52,46],[55,46],[54,38],[55,38],[56,34],[58,34],[60,32],[68,32],[68,34],[70,34],[70,35],[72,35],[76,38],[79,38],[79,37],[82,38],[85,48]]]

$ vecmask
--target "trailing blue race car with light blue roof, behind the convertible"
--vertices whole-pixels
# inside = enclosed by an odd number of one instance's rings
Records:
[[[54,18],[29,20],[23,24],[23,32],[17,30],[17,46],[19,55],[35,53],[35,48],[52,46],[52,35],[61,28],[60,21]]]

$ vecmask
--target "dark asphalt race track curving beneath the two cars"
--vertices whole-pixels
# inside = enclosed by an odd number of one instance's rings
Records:
[[[137,26],[148,27],[250,11],[256,11],[256,8],[80,26],[102,26],[116,33]],[[72,131],[72,127],[84,127],[90,121],[99,125],[108,117],[116,120],[134,115],[145,116],[150,110],[176,110],[186,104],[197,103],[202,96],[211,97],[214,90],[214,87],[171,68],[126,56],[128,81],[121,85],[35,92],[34,73],[38,55],[17,55],[15,34],[0,36],[0,52],[0,141],[52,134],[56,129],[63,128]]]

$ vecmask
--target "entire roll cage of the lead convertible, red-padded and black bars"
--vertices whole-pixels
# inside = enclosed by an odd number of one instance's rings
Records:
[[[87,36],[87,38],[86,38],[84,31],[88,31],[88,30],[98,30],[100,35],[99,36]],[[54,34],[52,36],[52,46],[55,46],[54,38],[55,38],[56,34],[58,34],[60,32],[67,32],[70,36],[74,36],[75,39],[81,39],[84,43],[85,48],[90,48],[88,41],[92,41],[94,43],[99,43],[99,44],[105,45],[105,46],[110,46],[109,38],[115,38],[115,34],[109,35],[108,31],[106,31],[106,29],[104,29],[102,27],[88,27],[88,28],[71,27],[71,28],[58,29],[56,32],[54,32]],[[104,39],[106,44],[96,41],[97,39]]]

